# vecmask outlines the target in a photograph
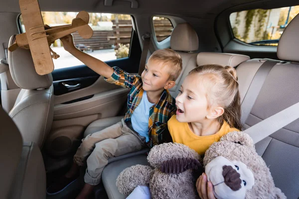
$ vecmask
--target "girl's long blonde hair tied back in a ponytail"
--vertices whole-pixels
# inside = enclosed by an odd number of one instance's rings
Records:
[[[242,129],[241,124],[241,103],[239,94],[239,84],[236,70],[230,66],[203,65],[189,72],[191,74],[202,75],[208,78],[210,83],[204,84],[207,87],[208,108],[212,104],[220,105],[224,108],[224,113],[217,118],[221,124],[225,120],[231,127]]]

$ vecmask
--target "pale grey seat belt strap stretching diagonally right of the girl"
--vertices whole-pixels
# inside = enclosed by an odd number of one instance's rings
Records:
[[[248,133],[254,143],[257,143],[298,118],[299,102],[249,127],[243,132]]]

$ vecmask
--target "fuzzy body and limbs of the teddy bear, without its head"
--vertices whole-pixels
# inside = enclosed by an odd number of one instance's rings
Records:
[[[125,169],[118,176],[116,185],[120,193],[127,196],[137,186],[149,186],[154,199],[199,199],[193,171],[198,173],[197,176],[203,172],[200,161],[198,153],[186,145],[155,145],[148,155],[150,166],[135,165]]]

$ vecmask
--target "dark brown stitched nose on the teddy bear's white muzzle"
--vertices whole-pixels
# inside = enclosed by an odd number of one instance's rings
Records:
[[[224,165],[222,169],[224,183],[233,191],[238,191],[239,189],[241,189],[242,180],[240,179],[240,174],[235,169],[233,169],[232,166]]]

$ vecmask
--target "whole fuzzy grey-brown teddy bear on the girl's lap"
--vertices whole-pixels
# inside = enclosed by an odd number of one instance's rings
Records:
[[[204,168],[217,199],[286,199],[275,187],[252,138],[242,131],[227,133],[214,142],[203,162],[194,150],[178,143],[154,146],[148,162],[151,167],[136,165],[120,173],[120,193],[129,195],[137,186],[149,186],[153,199],[198,199],[194,172],[200,174]]]

